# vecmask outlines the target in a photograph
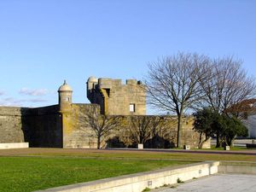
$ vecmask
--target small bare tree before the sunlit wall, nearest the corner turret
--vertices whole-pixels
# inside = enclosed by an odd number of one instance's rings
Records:
[[[89,126],[97,137],[97,148],[101,148],[102,140],[109,132],[122,125],[123,117],[116,115],[102,115],[99,108],[92,107],[85,112],[85,125]]]

